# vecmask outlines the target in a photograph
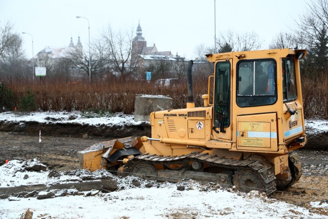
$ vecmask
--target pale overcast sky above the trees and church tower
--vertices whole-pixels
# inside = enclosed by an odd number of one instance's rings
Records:
[[[310,0],[216,0],[216,36],[228,29],[254,31],[262,49],[280,31],[293,28]],[[114,31],[134,31],[140,21],[147,46],[187,58],[196,56],[200,44],[214,47],[214,0],[0,0],[0,21],[10,21],[14,31],[33,35],[34,55],[46,46],[65,47],[80,36],[88,52],[90,41],[110,25]],[[22,35],[24,50],[32,57],[32,37]]]

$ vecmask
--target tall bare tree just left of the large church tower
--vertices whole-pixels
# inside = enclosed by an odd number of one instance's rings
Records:
[[[101,43],[104,45],[106,56],[108,57],[108,65],[113,71],[119,75],[121,81],[126,81],[128,77],[135,74],[138,70],[138,55],[134,63],[132,58],[132,42],[133,31],[114,33],[112,28],[101,34]]]

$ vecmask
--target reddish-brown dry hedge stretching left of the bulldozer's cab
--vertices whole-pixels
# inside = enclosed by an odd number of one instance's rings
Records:
[[[201,106],[200,97],[207,92],[207,81],[198,80],[196,84],[194,99],[196,106]],[[91,85],[84,81],[65,84],[44,80],[37,83],[16,82],[10,89],[15,94],[16,106],[19,99],[26,94],[26,90],[31,90],[34,94],[35,106],[41,111],[101,110],[132,114],[136,94],[169,95],[173,98],[174,109],[185,108],[187,103],[186,82],[181,82],[174,87],[156,87],[146,81],[121,83],[115,79],[103,80]]]

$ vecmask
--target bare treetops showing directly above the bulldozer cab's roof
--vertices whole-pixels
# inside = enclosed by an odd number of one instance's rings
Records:
[[[257,33],[248,32],[240,34],[232,30],[220,33],[217,45],[218,52],[248,51],[261,47]]]

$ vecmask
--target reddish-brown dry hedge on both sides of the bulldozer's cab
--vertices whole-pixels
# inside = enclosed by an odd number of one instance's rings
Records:
[[[328,118],[328,71],[314,75],[302,75],[303,107],[305,118]],[[37,83],[16,81],[8,86],[13,92],[13,105],[31,90],[36,109],[41,111],[108,111],[134,112],[136,94],[169,95],[173,99],[173,109],[185,108],[187,104],[187,82],[181,81],[174,87],[156,87],[146,81],[121,83],[113,78],[89,84],[88,81],[60,83],[45,80]],[[196,75],[193,78],[194,102],[196,107],[203,105],[202,94],[208,91],[208,76]],[[19,110],[19,109],[18,109]]]

